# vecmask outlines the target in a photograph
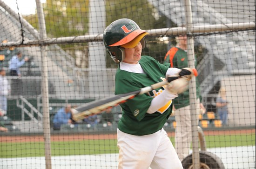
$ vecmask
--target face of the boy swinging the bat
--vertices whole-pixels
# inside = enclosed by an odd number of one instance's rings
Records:
[[[124,48],[125,58],[123,62],[137,64],[141,60],[142,45],[139,42],[134,48]]]

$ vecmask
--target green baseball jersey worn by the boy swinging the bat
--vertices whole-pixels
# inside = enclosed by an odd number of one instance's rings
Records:
[[[165,79],[169,64],[163,65],[150,56],[141,56],[139,61],[141,68],[146,74],[132,73],[117,69],[115,74],[115,94],[124,94],[148,87]],[[119,120],[119,130],[132,135],[147,135],[160,130],[172,112],[172,101],[162,109],[163,112],[146,113],[153,97],[162,92],[163,88],[158,88],[141,94],[135,98],[122,103],[122,117]],[[160,110],[160,109],[159,109]]]

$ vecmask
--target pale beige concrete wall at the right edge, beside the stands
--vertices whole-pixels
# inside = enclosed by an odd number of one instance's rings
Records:
[[[221,85],[229,101],[229,125],[255,125],[255,75],[226,76]]]

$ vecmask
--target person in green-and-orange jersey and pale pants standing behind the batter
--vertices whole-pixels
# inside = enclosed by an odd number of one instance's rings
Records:
[[[183,69],[188,67],[187,35],[180,35],[178,37],[175,37],[175,40],[177,42],[176,46],[168,50],[163,63],[170,63],[171,68]],[[205,113],[206,109],[201,103],[202,97],[200,94],[200,87],[197,79],[196,95],[198,102],[198,104],[196,104],[196,113],[199,115],[199,113]],[[180,160],[182,161],[186,156],[189,155],[190,144],[192,142],[189,89],[179,94],[179,96],[173,100],[173,106],[175,110],[176,121],[175,150]]]

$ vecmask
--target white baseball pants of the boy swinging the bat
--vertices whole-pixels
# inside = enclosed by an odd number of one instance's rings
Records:
[[[135,136],[117,129],[118,169],[183,169],[164,129]]]

